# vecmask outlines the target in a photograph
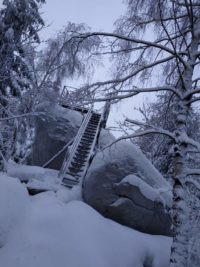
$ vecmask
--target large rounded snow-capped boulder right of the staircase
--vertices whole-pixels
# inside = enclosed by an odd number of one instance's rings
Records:
[[[170,192],[143,153],[125,141],[97,153],[83,187],[84,200],[104,216],[159,235],[171,235]]]

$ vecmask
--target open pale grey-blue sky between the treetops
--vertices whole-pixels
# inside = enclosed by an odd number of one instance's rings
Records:
[[[67,21],[111,31],[125,6],[121,0],[47,0],[42,10],[46,22],[52,23],[51,31],[60,29]]]

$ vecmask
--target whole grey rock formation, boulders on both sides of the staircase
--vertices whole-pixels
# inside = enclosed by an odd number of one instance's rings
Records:
[[[32,165],[42,166],[76,136],[83,115],[54,103],[40,105],[37,111],[41,114],[35,120]],[[97,149],[114,140],[102,129]],[[64,155],[48,168],[59,170]],[[121,224],[146,233],[170,235],[170,190],[142,152],[123,141],[96,154],[85,177],[83,197]]]

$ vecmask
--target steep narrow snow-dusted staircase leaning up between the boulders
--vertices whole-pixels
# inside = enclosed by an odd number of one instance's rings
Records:
[[[62,185],[71,189],[82,183],[97,141],[101,120],[101,114],[88,110],[60,170]]]

